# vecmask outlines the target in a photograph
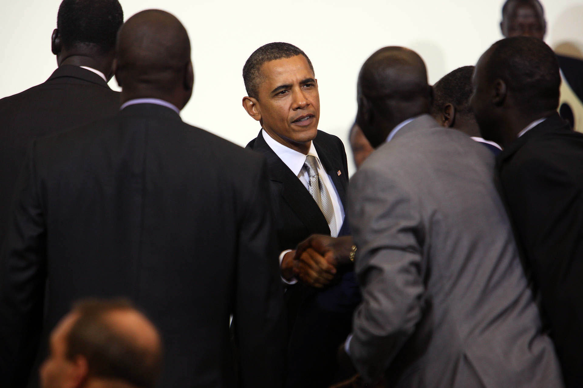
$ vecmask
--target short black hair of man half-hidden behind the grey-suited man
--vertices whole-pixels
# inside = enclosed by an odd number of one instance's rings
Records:
[[[433,86],[432,115],[437,115],[447,104],[454,105],[458,113],[472,113],[470,97],[472,96],[473,71],[474,66],[458,67],[437,81]]]

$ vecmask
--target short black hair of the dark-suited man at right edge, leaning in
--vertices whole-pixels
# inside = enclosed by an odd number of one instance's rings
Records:
[[[559,106],[559,62],[545,42],[533,37],[499,40],[486,63],[490,81],[501,79],[524,112],[555,110]]]

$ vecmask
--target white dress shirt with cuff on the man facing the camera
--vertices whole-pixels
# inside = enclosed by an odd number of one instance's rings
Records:
[[[276,155],[282,159],[282,162],[294,173],[300,180],[300,182],[304,185],[305,189],[308,190],[310,186],[310,176],[308,176],[308,170],[304,167],[305,157],[307,155],[302,154],[301,152],[296,151],[295,149],[291,149],[286,147],[285,145],[279,143],[274,138],[269,136],[269,134],[265,130],[261,130],[261,134],[265,140],[265,143],[269,145],[269,148],[275,152]],[[315,156],[317,165],[318,165],[318,175],[322,182],[326,185],[326,189],[328,190],[328,194],[330,195],[330,199],[332,201],[332,207],[334,208],[334,222],[336,223],[336,233],[332,235],[332,237],[338,237],[338,232],[342,227],[342,223],[344,222],[344,208],[342,207],[342,202],[340,202],[340,197],[338,195],[338,191],[336,187],[332,183],[331,177],[326,173],[324,166],[320,162],[320,158],[318,157],[318,152],[314,147],[314,142],[312,141],[310,145],[310,149],[308,151],[308,155]],[[287,252],[291,252],[293,250],[286,250],[283,251],[279,255],[279,264],[282,264],[283,256]],[[283,277],[282,277],[283,279]],[[283,279],[284,282],[287,284],[294,284],[297,282],[297,279],[293,279],[288,282],[286,279]]]

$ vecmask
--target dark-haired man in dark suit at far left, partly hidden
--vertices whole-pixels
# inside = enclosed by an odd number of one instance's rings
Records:
[[[117,0],[64,0],[52,53],[58,69],[44,83],[0,99],[0,244],[26,148],[34,138],[114,115],[120,94],[113,76],[115,35],[124,22]]]

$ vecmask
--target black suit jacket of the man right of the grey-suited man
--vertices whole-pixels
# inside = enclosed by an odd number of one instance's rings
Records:
[[[583,134],[558,114],[497,157],[525,265],[568,387],[583,386]]]

